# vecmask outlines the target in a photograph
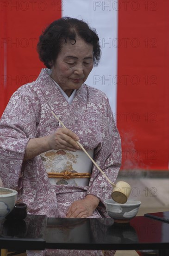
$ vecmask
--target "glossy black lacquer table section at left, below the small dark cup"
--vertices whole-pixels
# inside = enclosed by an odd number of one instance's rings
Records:
[[[46,216],[27,215],[23,221],[0,221],[0,249],[45,249]]]

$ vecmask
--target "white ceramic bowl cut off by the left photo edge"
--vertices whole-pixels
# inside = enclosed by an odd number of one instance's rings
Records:
[[[0,220],[4,219],[14,208],[18,192],[14,189],[0,187]]]

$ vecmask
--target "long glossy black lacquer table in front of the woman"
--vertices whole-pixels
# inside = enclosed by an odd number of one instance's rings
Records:
[[[0,248],[22,249],[157,249],[168,256],[169,222],[150,216],[134,217],[130,223],[111,218],[46,218],[28,215],[22,222],[0,222]]]

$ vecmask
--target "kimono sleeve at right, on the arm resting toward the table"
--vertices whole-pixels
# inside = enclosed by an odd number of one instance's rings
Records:
[[[100,148],[95,150],[94,161],[111,182],[115,183],[121,166],[121,139],[107,98],[106,101],[106,113],[102,113],[102,120],[100,121],[104,123],[102,128],[102,143]],[[93,165],[87,194],[95,195],[104,204],[106,199],[111,198],[112,190],[113,186]]]

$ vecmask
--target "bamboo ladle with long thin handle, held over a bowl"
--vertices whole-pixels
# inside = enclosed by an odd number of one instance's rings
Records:
[[[64,127],[66,126],[63,124],[62,121],[59,120],[59,118],[54,114],[52,111],[52,115],[56,118],[56,120]],[[131,193],[131,186],[127,182],[117,182],[117,184],[114,184],[111,182],[111,180],[106,176],[106,174],[100,169],[100,167],[97,165],[96,162],[94,162],[93,158],[88,154],[88,152],[83,148],[81,143],[79,141],[76,141],[79,147],[85,152],[86,155],[90,158],[90,160],[94,163],[94,165],[100,170],[100,172],[105,176],[106,180],[114,187],[112,191],[112,198],[115,202],[118,203],[125,203],[127,202],[127,199]]]

